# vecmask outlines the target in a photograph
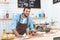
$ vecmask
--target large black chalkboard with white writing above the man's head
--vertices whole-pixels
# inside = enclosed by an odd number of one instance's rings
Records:
[[[41,8],[40,0],[18,0],[18,8]]]

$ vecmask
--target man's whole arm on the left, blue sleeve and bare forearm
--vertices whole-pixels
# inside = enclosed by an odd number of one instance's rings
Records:
[[[19,21],[19,17],[20,17],[19,14],[14,15],[12,24],[11,24],[11,29],[16,36],[21,36],[16,30],[16,26],[17,26],[17,22]]]

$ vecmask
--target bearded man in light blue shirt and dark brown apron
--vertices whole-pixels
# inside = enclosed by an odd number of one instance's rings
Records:
[[[25,7],[22,14],[17,14],[13,18],[12,29],[16,36],[23,37],[23,34],[26,33],[29,35],[29,32],[34,30],[32,18],[30,15],[30,7]],[[27,30],[29,28],[29,30]]]

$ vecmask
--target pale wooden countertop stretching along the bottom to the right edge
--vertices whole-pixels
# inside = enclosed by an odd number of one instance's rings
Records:
[[[60,30],[51,30],[49,33],[37,32],[38,36],[31,36],[24,40],[53,40],[54,37],[60,37]],[[15,37],[13,40],[22,40],[23,38]],[[1,37],[0,37],[1,40]]]

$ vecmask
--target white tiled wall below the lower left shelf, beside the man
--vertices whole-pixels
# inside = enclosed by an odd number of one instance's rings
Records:
[[[12,32],[11,20],[0,20],[0,34],[3,33],[3,29],[5,29],[6,32]]]

